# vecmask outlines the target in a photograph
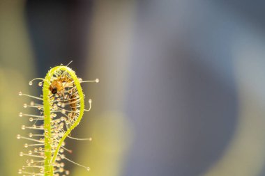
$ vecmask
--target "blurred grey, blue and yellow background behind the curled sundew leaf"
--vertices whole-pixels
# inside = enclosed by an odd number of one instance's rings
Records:
[[[18,91],[68,64],[92,111],[71,175],[265,175],[265,2],[0,0],[0,175],[17,175]]]

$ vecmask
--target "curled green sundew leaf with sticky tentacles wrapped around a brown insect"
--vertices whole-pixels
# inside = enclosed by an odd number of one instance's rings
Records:
[[[70,63],[69,63],[70,64]],[[69,65],[68,64],[68,65]],[[66,157],[65,152],[71,153],[65,146],[64,140],[68,138],[76,140],[89,140],[91,138],[73,138],[72,131],[82,120],[84,111],[84,93],[81,83],[95,82],[82,81],[77,78],[75,71],[71,70],[68,65],[53,67],[43,78],[36,78],[29,81],[40,80],[38,86],[43,88],[43,95],[40,97],[19,93],[31,97],[34,101],[29,104],[23,104],[24,108],[33,108],[40,111],[39,114],[19,113],[20,117],[27,117],[32,123],[29,126],[22,125],[23,130],[29,130],[28,136],[17,134],[18,139],[24,139],[24,147],[29,149],[27,152],[20,152],[21,157],[26,157],[24,166],[18,170],[19,174],[30,176],[59,176],[69,175],[70,171],[64,168],[64,161],[74,161]],[[75,163],[82,166],[79,163]],[[89,170],[89,167],[82,166]]]

